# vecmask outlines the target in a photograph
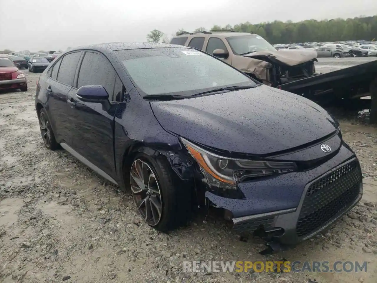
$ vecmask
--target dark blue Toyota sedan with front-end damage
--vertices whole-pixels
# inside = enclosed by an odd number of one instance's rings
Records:
[[[67,51],[41,75],[35,107],[48,149],[130,189],[161,231],[214,206],[238,231],[295,245],[362,197],[359,161],[328,112],[186,46]]]

